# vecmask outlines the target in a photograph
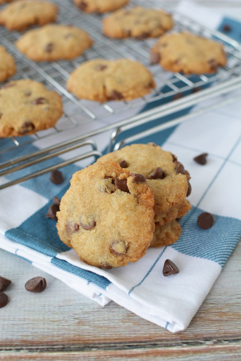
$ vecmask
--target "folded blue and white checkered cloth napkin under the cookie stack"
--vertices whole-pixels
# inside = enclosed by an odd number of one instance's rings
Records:
[[[163,133],[155,135],[153,141],[176,154],[191,174],[193,207],[181,219],[182,232],[175,244],[150,248],[138,262],[111,270],[80,261],[59,240],[56,222],[46,218],[53,196],[65,193],[78,169],[70,165],[62,169],[61,185],[50,183],[47,174],[0,191],[1,248],[101,305],[113,300],[171,332],[184,330],[241,237],[240,114],[239,101],[186,121],[169,131],[165,140]],[[29,151],[33,150],[31,145]],[[193,157],[204,152],[208,160],[201,166]],[[197,226],[203,211],[214,216],[208,230]],[[162,275],[167,258],[178,266],[179,274]]]

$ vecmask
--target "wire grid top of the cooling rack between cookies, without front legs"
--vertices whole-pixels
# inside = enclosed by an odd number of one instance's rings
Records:
[[[30,78],[40,81],[46,85],[47,88],[58,91],[63,97],[64,104],[63,117],[59,119],[55,127],[49,130],[39,131],[33,136],[12,138],[12,145],[10,147],[8,145],[7,148],[2,147],[0,144],[0,155],[16,147],[33,143],[37,139],[43,139],[59,132],[66,132],[69,129],[81,125],[88,125],[91,122],[96,122],[106,117],[112,117],[111,120],[114,128],[115,115],[118,113],[122,113],[124,119],[125,112],[131,108],[145,106],[159,99],[172,101],[180,96],[188,96],[190,92],[200,90],[207,84],[215,86],[215,84],[223,83],[227,81],[227,79],[237,77],[241,72],[241,53],[238,51],[235,42],[232,42],[232,40],[228,39],[225,35],[197,25],[197,23],[191,19],[184,18],[178,13],[173,13],[175,19],[173,31],[186,30],[200,36],[205,36],[206,38],[215,36],[218,41],[224,43],[225,51],[228,55],[228,62],[225,68],[219,69],[218,72],[213,75],[184,76],[180,73],[169,73],[164,71],[159,65],[150,65],[150,49],[156,42],[156,39],[119,40],[106,38],[102,35],[103,15],[83,13],[69,0],[54,1],[59,7],[58,22],[81,27],[89,33],[94,40],[94,45],[90,49],[87,49],[82,56],[73,60],[35,63],[20,53],[14,46],[14,43],[21,34],[16,31],[7,31],[3,27],[0,28],[0,43],[13,54],[16,60],[17,73],[12,79]],[[152,0],[135,0],[132,1],[132,6],[133,5],[156,7],[155,1]],[[167,8],[167,5],[162,7]],[[121,57],[140,61],[149,68],[154,75],[156,89],[149,95],[133,101],[110,101],[107,103],[79,100],[66,90],[65,84],[70,73],[84,61],[93,58],[116,59]],[[102,123],[100,123],[100,129],[101,126]]]

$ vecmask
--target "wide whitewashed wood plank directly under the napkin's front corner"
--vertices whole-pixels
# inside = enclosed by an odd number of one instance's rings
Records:
[[[239,244],[187,330],[177,334],[148,322],[121,306],[101,307],[27,262],[0,251],[1,273],[12,279],[10,302],[0,310],[0,348],[50,345],[98,347],[112,343],[157,343],[234,340],[241,335],[241,244]],[[14,265],[14,267],[13,267]],[[4,270],[4,273],[3,273]],[[43,293],[25,291],[36,275],[46,277]],[[160,344],[159,344],[160,343]]]

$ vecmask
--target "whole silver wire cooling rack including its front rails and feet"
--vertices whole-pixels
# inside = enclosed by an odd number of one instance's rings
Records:
[[[42,157],[44,157],[44,159],[50,157],[50,152],[52,154],[51,157],[53,157],[63,154],[63,152],[68,151],[68,149],[75,149],[78,147],[78,144],[83,144],[83,139],[90,138],[93,135],[109,129],[116,129],[113,132],[111,140],[111,146],[113,146],[116,134],[121,131],[123,126],[126,126],[128,129],[128,127],[134,126],[136,122],[138,124],[140,122],[148,122],[150,119],[174,113],[189,105],[197,104],[204,99],[210,99],[210,97],[227,93],[240,87],[240,45],[218,31],[208,30],[206,27],[197,24],[191,19],[185,18],[183,14],[172,11],[175,20],[174,31],[185,30],[206,38],[215,37],[217,41],[224,44],[228,62],[227,65],[224,68],[220,68],[217,73],[213,75],[183,75],[180,73],[167,72],[159,65],[150,65],[150,49],[155,44],[156,39],[109,39],[102,35],[103,15],[83,13],[69,0],[55,0],[54,2],[59,7],[58,22],[81,27],[89,33],[94,40],[94,45],[90,49],[87,49],[83,56],[75,58],[74,60],[35,63],[26,58],[14,46],[14,43],[21,34],[15,31],[7,31],[3,27],[0,28],[0,44],[4,45],[16,60],[17,74],[14,75],[12,79],[30,78],[40,81],[47,88],[59,92],[63,97],[64,105],[63,117],[59,119],[55,127],[49,130],[39,131],[33,136],[13,137],[11,144],[9,145],[9,142],[7,142],[6,146],[2,146],[0,140],[0,156],[4,160],[7,159],[7,161],[0,164],[0,169],[3,169],[0,175],[7,175],[13,171],[25,168],[33,164],[33,162],[40,162],[42,161]],[[159,8],[162,7],[167,10],[172,10],[167,4],[160,4],[160,1],[156,3],[154,0],[134,0],[132,1],[132,6],[133,5],[149,8],[158,6]],[[121,57],[137,60],[149,68],[154,76],[156,89],[152,90],[147,96],[133,101],[109,101],[106,103],[79,100],[66,90],[65,84],[70,73],[82,64],[82,62],[94,58],[116,59]],[[206,89],[207,86],[211,87],[211,91],[210,89]],[[196,90],[199,91],[195,92]],[[178,99],[179,97],[180,99]],[[165,104],[156,106],[157,100],[164,100]],[[130,109],[136,108],[138,111],[138,109],[141,109],[140,107],[145,107],[148,104],[153,104],[153,109],[142,112],[136,116],[127,117]],[[117,114],[119,117],[117,117]],[[109,118],[108,125],[101,122],[102,119],[107,118]],[[92,131],[91,123],[95,123],[95,129]],[[77,138],[61,142],[57,145],[50,145],[49,147],[25,156],[9,158],[9,155],[12,154],[11,151],[14,149],[27,147],[27,145],[31,143],[34,144],[37,140],[44,138],[54,139],[57,133],[65,132],[67,134],[69,130],[84,125],[86,125],[85,129],[87,130]],[[88,129],[88,127],[90,128]],[[53,142],[53,144],[54,143],[56,142]],[[93,154],[98,156],[96,144],[94,144],[92,140],[88,144],[91,144]],[[87,152],[79,156],[78,159],[85,158],[86,155],[90,156],[90,154],[91,152]],[[72,158],[72,161],[76,160],[76,157]],[[25,163],[20,165],[23,161]],[[9,168],[12,166],[13,168]],[[42,172],[45,173],[46,169]],[[39,172],[34,174],[34,176],[36,175],[39,175]],[[25,179],[26,177],[17,179],[14,181],[14,184]],[[9,183],[12,184],[13,182]],[[1,187],[3,188],[4,185]]]

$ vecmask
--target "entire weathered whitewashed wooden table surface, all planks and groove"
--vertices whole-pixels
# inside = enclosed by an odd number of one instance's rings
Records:
[[[241,20],[241,1],[197,2]],[[0,250],[0,275],[12,280],[0,309],[0,360],[241,360],[240,260],[241,243],[188,329],[172,334],[114,302],[99,306]],[[25,291],[26,280],[38,275],[46,290]]]

